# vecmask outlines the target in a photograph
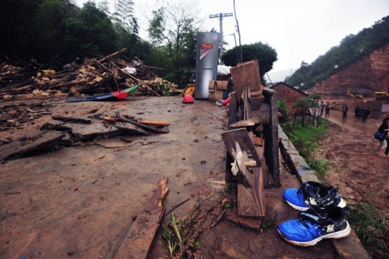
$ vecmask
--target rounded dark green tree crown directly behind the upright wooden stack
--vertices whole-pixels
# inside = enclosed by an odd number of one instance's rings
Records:
[[[221,60],[226,66],[235,67],[238,64],[237,52],[239,47],[234,47],[226,51],[221,56]],[[265,82],[265,74],[273,69],[273,63],[277,61],[277,51],[270,47],[267,43],[257,42],[250,45],[242,45],[243,62],[250,60],[258,60],[260,65],[260,76],[262,84]]]

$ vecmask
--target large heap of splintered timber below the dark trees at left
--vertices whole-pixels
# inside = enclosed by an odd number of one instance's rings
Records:
[[[159,78],[152,71],[161,68],[146,66],[137,57],[131,61],[113,59],[124,50],[103,59],[86,58],[82,64],[75,59],[59,71],[33,60],[29,60],[27,65],[23,64],[23,67],[15,62],[4,62],[0,64],[0,99],[93,96],[135,85],[139,85],[139,88],[134,96],[182,93],[177,85]]]

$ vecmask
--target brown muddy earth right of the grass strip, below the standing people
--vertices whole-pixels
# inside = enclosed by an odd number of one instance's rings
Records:
[[[378,140],[373,139],[382,120],[368,119],[363,122],[350,113],[347,120],[342,113],[330,113],[328,133],[320,140],[318,159],[335,163],[324,180],[339,187],[339,193],[349,204],[369,204],[382,214],[389,214],[389,158],[376,156]],[[381,233],[383,243],[389,243],[389,222],[385,221]],[[374,255],[387,258],[388,254]]]

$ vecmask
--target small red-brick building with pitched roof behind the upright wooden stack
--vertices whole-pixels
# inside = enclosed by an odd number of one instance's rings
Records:
[[[290,114],[294,114],[295,108],[293,105],[298,98],[309,96],[308,93],[298,90],[289,84],[279,82],[274,85],[266,85],[267,88],[271,88],[277,92],[277,96],[281,100],[286,100],[286,107],[288,107]]]

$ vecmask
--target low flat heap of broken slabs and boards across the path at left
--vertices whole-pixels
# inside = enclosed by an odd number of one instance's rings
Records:
[[[29,116],[34,112],[30,108],[24,110],[30,111],[26,113]],[[96,111],[91,110],[91,113]],[[47,114],[42,109],[35,110],[35,113],[37,116]],[[17,123],[21,125],[21,122]],[[0,163],[61,149],[64,146],[98,145],[108,149],[125,149],[138,143],[152,144],[153,142],[134,142],[129,145],[107,147],[99,144],[98,140],[118,136],[123,142],[129,143],[132,142],[131,137],[134,134],[148,136],[151,133],[168,133],[169,125],[169,122],[143,120],[120,115],[119,112],[95,113],[83,117],[52,116],[52,120],[42,125],[40,129],[30,129],[15,139],[11,137],[0,139]]]

